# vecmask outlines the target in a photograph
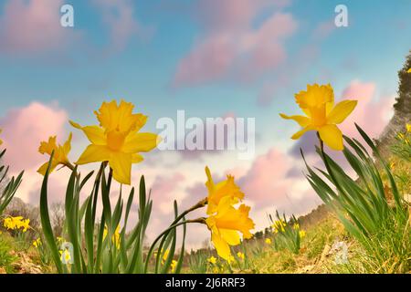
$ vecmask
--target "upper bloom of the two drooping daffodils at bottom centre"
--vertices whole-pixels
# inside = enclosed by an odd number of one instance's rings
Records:
[[[230,198],[231,204],[239,203],[244,198],[244,193],[242,193],[237,184],[234,183],[234,176],[227,175],[226,181],[214,183],[208,167],[205,167],[205,173],[207,175],[205,186],[208,189],[207,214],[216,213],[218,203],[220,203],[224,197]]]

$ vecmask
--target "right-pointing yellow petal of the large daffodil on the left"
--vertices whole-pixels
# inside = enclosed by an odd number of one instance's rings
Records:
[[[121,150],[127,153],[152,151],[159,139],[159,136],[153,133],[134,132],[127,136]]]

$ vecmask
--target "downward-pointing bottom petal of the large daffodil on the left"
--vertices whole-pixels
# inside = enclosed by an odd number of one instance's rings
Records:
[[[109,163],[114,180],[123,184],[132,183],[132,154],[114,152]]]

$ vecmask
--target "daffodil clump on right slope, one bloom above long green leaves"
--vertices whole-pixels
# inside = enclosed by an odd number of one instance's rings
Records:
[[[337,127],[350,115],[357,101],[342,100],[334,105],[331,85],[317,84],[308,85],[306,91],[295,95],[295,100],[305,116],[280,116],[295,120],[302,127],[292,139],[299,139],[308,130],[318,132],[320,141],[317,153],[325,169],[311,168],[301,151],[308,171],[306,177],[313,190],[367,251],[364,262],[373,261],[379,269],[390,266],[396,270],[409,270],[409,261],[406,260],[409,248],[392,251],[394,245],[410,246],[411,238],[409,208],[404,200],[405,194],[395,182],[392,167],[385,162],[375,142],[359,125],[355,124],[355,128],[364,143],[343,136]],[[396,137],[403,146],[409,144],[406,139],[409,128],[406,126],[406,132]],[[354,172],[353,177],[347,174],[350,171],[346,166],[342,167],[326,152],[323,144],[332,150],[342,151]],[[409,148],[405,153],[408,160]],[[299,234],[299,237],[305,235],[301,230]],[[387,253],[385,248],[390,252]]]

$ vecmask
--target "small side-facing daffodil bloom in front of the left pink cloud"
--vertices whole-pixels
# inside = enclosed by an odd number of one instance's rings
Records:
[[[58,145],[56,140],[57,136],[53,136],[48,138],[48,141],[42,141],[40,143],[40,147],[38,151],[41,154],[51,155],[54,151],[53,160],[51,161],[50,172],[53,172],[59,164],[68,166],[72,168],[71,163],[68,161],[68,153],[71,150],[71,138],[72,134],[70,133],[68,136],[68,141],[64,143],[64,145]],[[37,172],[45,175],[47,172],[48,162],[44,163]]]

